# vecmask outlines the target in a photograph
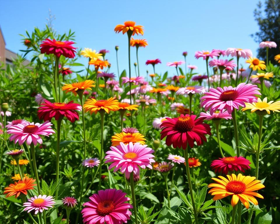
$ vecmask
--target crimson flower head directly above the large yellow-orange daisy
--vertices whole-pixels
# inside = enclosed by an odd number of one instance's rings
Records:
[[[242,156],[223,157],[219,158],[218,160],[213,160],[211,163],[211,168],[216,173],[222,172],[226,175],[229,170],[240,170],[241,172],[245,172],[245,169],[250,169],[249,164],[251,164],[251,162]]]

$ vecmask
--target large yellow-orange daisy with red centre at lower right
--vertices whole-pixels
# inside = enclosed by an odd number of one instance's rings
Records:
[[[259,180],[255,180],[254,176],[243,176],[242,174],[235,174],[227,175],[227,178],[223,176],[218,176],[218,178],[212,178],[212,180],[216,181],[217,183],[210,183],[208,185],[209,190],[208,193],[214,195],[213,200],[219,200],[224,197],[232,195],[231,205],[235,206],[239,199],[242,204],[249,208],[249,202],[257,205],[258,201],[255,197],[262,198],[262,195],[255,192],[255,190],[260,190],[265,186],[260,183]]]

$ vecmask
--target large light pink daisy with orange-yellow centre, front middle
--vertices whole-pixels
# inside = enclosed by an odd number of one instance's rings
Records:
[[[120,145],[111,146],[110,149],[110,151],[106,152],[105,163],[113,162],[109,166],[109,169],[115,167],[114,172],[120,169],[122,173],[125,173],[127,179],[131,172],[135,175],[139,175],[140,169],[138,166],[142,169],[146,167],[153,169],[151,163],[155,162],[155,160],[152,159],[155,156],[151,153],[153,153],[154,150],[147,147],[147,145],[141,145],[139,142],[135,144],[129,142],[129,144],[125,145],[120,142]]]

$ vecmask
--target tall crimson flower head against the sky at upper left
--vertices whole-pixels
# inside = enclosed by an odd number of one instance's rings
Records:
[[[40,45],[41,53],[54,54],[57,57],[63,55],[64,57],[74,58],[75,57],[75,49],[71,44],[74,42],[72,41],[56,41],[55,39],[50,40],[46,39]]]

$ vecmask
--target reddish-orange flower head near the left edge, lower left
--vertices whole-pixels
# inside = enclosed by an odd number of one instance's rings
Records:
[[[27,190],[33,190],[34,189],[33,187],[37,185],[34,183],[35,181],[36,180],[32,178],[24,177],[23,180],[20,180],[15,183],[11,183],[8,187],[4,189],[3,193],[7,194],[6,197],[15,195],[15,198],[20,196],[20,193],[27,195]]]

